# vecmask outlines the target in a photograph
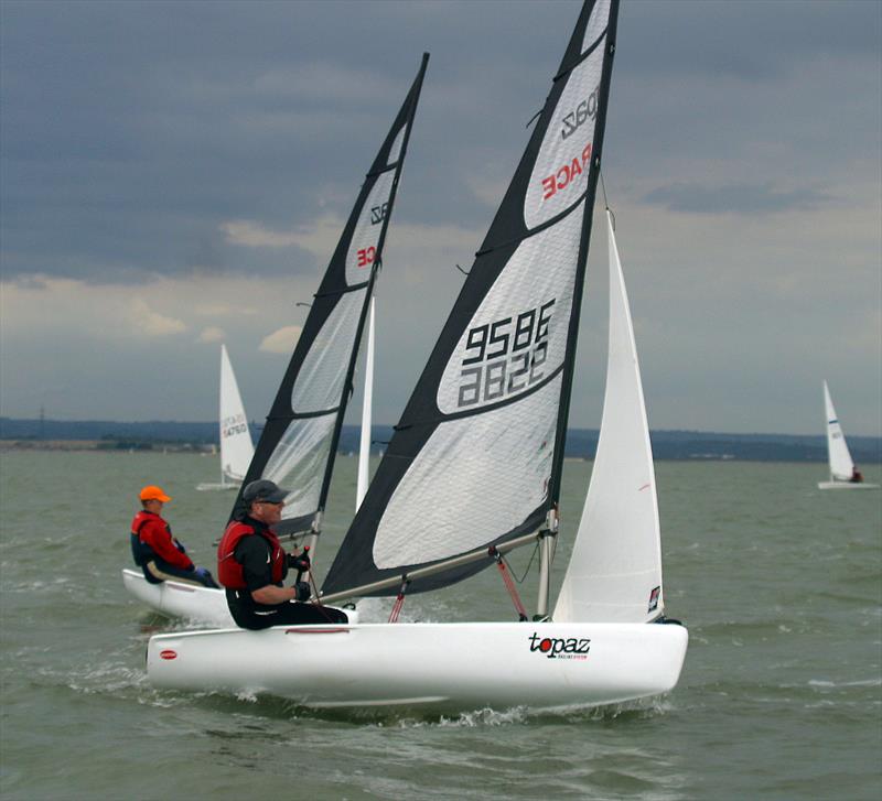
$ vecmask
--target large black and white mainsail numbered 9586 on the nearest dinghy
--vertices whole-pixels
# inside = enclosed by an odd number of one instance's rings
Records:
[[[584,3],[324,595],[459,581],[556,506],[616,15],[617,0]]]

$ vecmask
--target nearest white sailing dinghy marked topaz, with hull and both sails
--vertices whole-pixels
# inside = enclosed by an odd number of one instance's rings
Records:
[[[607,396],[602,474],[613,480],[616,453],[631,448],[607,512],[620,500],[639,511],[602,518],[594,531],[589,510],[580,530],[588,544],[577,543],[558,618],[547,616],[616,15],[617,0],[585,2],[499,212],[325,578],[322,603],[396,596],[390,621],[154,636],[154,686],[270,693],[314,707],[444,710],[596,705],[674,688],[688,635],[657,625],[657,526],[641,538],[624,530],[652,527],[655,490],[633,340],[622,342],[630,321],[621,282],[610,392],[632,397],[619,414],[620,399]],[[595,537],[620,535],[619,554],[607,544],[600,564],[583,564]],[[636,541],[653,553],[628,563],[624,551]],[[538,620],[528,621],[517,599],[519,623],[395,621],[407,594],[492,565],[506,577],[503,555],[524,544],[541,556]],[[594,574],[602,593],[584,586]]]

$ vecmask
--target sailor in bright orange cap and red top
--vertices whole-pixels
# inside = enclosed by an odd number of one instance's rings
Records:
[[[148,485],[139,494],[141,511],[131,521],[131,554],[151,584],[168,578],[189,584],[217,587],[205,567],[196,567],[186,549],[172,535],[172,529],[160,512],[171,500],[162,487]]]

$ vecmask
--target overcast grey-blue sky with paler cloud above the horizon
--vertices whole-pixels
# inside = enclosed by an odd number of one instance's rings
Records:
[[[262,420],[295,303],[431,53],[378,288],[380,423],[398,420],[579,12],[0,8],[9,416],[212,420],[225,342]],[[847,434],[882,433],[881,2],[623,0],[603,172],[653,429],[820,433],[826,378]],[[587,291],[570,420],[596,427],[602,225]]]

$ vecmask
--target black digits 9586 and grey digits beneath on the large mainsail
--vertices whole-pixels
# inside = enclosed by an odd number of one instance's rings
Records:
[[[458,405],[471,407],[519,392],[545,375],[555,300],[469,329]]]

